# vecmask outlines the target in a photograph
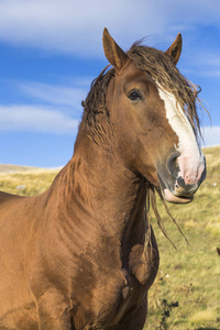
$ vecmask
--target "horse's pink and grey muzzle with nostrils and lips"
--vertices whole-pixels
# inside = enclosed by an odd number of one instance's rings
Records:
[[[190,202],[206,178],[206,158],[202,153],[196,160],[175,152],[167,158],[166,166],[158,164],[157,175],[167,201]]]

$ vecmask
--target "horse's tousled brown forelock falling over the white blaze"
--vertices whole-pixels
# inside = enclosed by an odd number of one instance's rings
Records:
[[[198,97],[201,88],[186,79],[174,66],[169,56],[162,51],[143,46],[141,42],[136,42],[132,45],[128,55],[140,69],[146,72],[164,90],[174,95],[179,106],[185,110],[195,131],[200,134],[200,120],[197,109],[205,108]]]

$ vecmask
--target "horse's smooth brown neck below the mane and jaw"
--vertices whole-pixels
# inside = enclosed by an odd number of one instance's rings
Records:
[[[95,237],[105,232],[124,245],[136,237],[142,240],[144,180],[125,168],[111,142],[108,146],[81,136],[59,177],[59,212],[78,229],[88,230],[89,239],[91,232]]]

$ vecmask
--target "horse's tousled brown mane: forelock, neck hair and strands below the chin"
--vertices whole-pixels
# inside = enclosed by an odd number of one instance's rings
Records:
[[[127,54],[131,59],[134,61],[134,63],[141,70],[144,70],[152,80],[156,81],[165,91],[174,95],[182,109],[184,109],[184,111],[186,112],[187,118],[190,120],[195,133],[197,135],[200,135],[200,121],[197,109],[205,108],[198,97],[201,88],[186,79],[176,68],[172,58],[162,51],[148,46],[143,46],[141,42],[135,42]],[[108,68],[109,65],[91,82],[90,91],[86,100],[81,102],[84,107],[82,121],[86,122],[86,125],[92,132],[92,138],[95,139],[95,141],[97,138],[99,139],[103,133],[103,128],[99,123],[99,113],[105,113],[109,123],[111,123],[110,113],[106,105],[106,95],[109,82],[116,74],[116,69]],[[148,202],[146,202],[146,209],[148,210],[151,205],[161,230],[169,240],[163,224],[163,220],[156,208],[155,193],[158,194],[169,218],[172,218],[178,229],[179,227],[176,223],[175,219],[172,217],[168,207],[166,206],[161,188],[150,185],[147,197]],[[180,229],[179,231],[182,232]],[[182,234],[184,235],[183,232]]]

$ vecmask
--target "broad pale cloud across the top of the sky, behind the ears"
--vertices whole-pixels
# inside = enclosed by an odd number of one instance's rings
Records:
[[[163,35],[169,42],[178,29],[196,24],[220,26],[219,16],[219,0],[1,0],[0,40],[103,56],[105,26],[127,47],[147,35]]]

